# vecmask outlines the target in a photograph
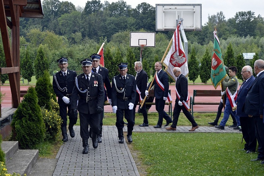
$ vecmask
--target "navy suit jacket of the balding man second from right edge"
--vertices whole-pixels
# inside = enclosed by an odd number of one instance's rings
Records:
[[[239,117],[248,117],[249,114],[245,114],[242,111],[243,104],[245,102],[246,96],[248,94],[249,87],[254,82],[255,77],[252,75],[248,78],[248,81],[246,81],[242,87],[240,87],[238,94],[237,94],[237,109],[236,113]]]

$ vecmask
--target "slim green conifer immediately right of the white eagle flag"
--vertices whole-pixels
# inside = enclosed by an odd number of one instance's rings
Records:
[[[189,79],[191,81],[194,81],[198,78],[199,76],[199,63],[196,59],[196,53],[194,47],[191,49],[191,56],[190,59],[188,60],[188,69],[189,69]]]

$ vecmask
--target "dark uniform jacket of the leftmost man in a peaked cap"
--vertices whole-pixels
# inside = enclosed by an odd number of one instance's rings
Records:
[[[77,76],[76,72],[67,69],[66,78],[61,71],[53,76],[52,86],[55,94],[58,97],[58,104],[65,104],[62,97],[67,96],[70,99],[68,104],[71,104],[71,94],[73,92],[74,80]],[[60,88],[59,88],[60,87]],[[64,88],[66,87],[66,88]],[[64,91],[62,91],[62,90]]]

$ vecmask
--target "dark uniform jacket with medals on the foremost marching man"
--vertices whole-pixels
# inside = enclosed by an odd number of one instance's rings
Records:
[[[86,97],[88,97],[87,102]],[[91,100],[89,100],[90,98]],[[92,72],[89,84],[86,81],[86,76],[84,73],[77,76],[77,82],[75,81],[73,88],[71,109],[78,109],[78,111],[81,113],[93,114],[97,112],[97,106],[103,107],[103,99],[104,88],[101,75]],[[78,107],[77,100],[79,100]]]

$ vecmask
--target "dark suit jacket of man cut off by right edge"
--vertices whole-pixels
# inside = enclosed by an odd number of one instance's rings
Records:
[[[244,113],[259,116],[263,114],[264,103],[264,72],[255,78],[249,87],[244,103]]]

